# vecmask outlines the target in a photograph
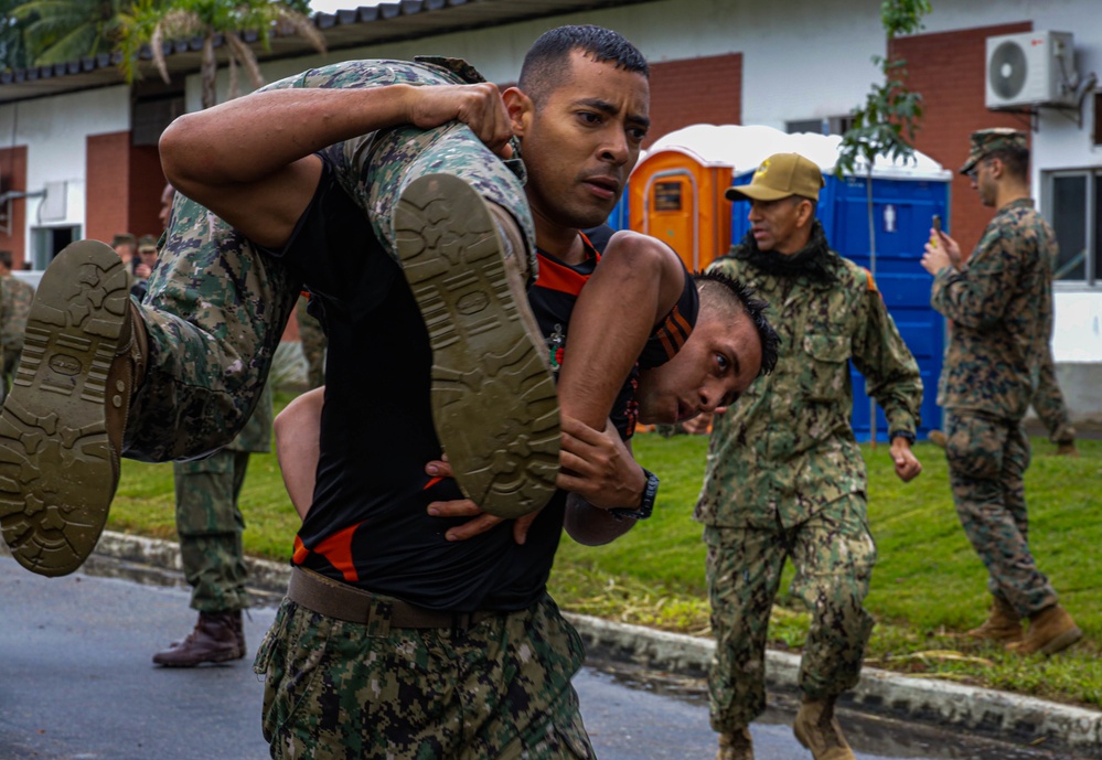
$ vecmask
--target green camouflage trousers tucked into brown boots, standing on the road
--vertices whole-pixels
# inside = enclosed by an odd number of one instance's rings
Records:
[[[199,461],[174,462],[176,533],[191,607],[200,612],[226,612],[248,607],[242,531],[237,507],[247,451],[222,450]]]

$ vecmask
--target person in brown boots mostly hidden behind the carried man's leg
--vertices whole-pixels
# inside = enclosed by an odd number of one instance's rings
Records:
[[[158,665],[194,667],[239,660],[248,652],[242,625],[242,610],[248,607],[245,517],[237,500],[249,454],[271,449],[271,418],[266,387],[249,421],[226,448],[205,459],[172,463],[180,559],[199,621],[183,641],[153,655]]]

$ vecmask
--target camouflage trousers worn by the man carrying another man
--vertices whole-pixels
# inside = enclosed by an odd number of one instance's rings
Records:
[[[272,758],[595,757],[584,646],[549,597],[467,630],[390,629],[386,602],[362,624],[283,600],[253,665]]]

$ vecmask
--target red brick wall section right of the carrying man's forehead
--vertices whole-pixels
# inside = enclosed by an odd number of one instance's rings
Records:
[[[689,125],[741,121],[741,53],[651,64],[651,130],[644,148]]]

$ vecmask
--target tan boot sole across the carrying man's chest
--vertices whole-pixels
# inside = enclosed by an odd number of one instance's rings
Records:
[[[485,201],[430,174],[403,191],[393,221],[432,346],[432,420],[460,489],[499,517],[542,509],[558,473],[555,379]]]

